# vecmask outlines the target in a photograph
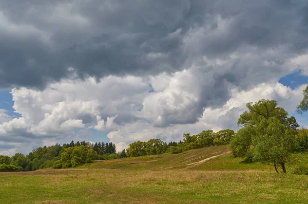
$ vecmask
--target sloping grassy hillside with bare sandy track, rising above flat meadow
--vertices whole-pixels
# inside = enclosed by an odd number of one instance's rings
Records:
[[[196,169],[196,170],[264,170],[268,166],[252,163],[241,163],[242,158],[234,158],[229,147],[211,146],[191,150],[181,154],[162,154],[105,161],[95,161],[80,166],[84,169],[122,169],[122,170],[167,170],[167,169]]]

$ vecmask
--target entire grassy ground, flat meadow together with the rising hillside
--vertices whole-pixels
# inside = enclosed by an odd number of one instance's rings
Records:
[[[0,173],[0,203],[308,203],[308,176],[276,174],[228,151],[215,146],[76,169]]]

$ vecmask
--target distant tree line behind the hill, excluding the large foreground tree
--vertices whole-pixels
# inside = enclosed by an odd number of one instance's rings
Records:
[[[225,129],[214,133],[211,130],[202,131],[198,135],[184,134],[183,141],[163,142],[160,139],[136,141],[129,147],[117,153],[112,142],[89,143],[86,141],[71,141],[63,145],[38,147],[28,155],[17,153],[12,157],[0,155],[0,172],[4,171],[35,171],[45,168],[73,168],[90,163],[93,160],[118,159],[163,153],[178,154],[206,146],[228,144],[234,131]]]

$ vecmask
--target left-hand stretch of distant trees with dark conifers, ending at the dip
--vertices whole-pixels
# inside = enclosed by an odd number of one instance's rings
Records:
[[[93,160],[107,160],[126,157],[126,151],[118,152],[112,142],[90,143],[71,141],[63,145],[38,147],[28,155],[0,155],[0,172],[34,171],[45,168],[71,168]]]

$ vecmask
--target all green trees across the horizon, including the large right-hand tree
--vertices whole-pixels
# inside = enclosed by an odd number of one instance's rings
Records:
[[[297,107],[299,114],[308,110],[308,86],[303,91],[304,98]],[[93,160],[117,159],[157,155],[178,154],[185,151],[214,145],[229,144],[235,157],[246,161],[273,165],[277,173],[286,173],[294,158],[293,153],[308,152],[308,129],[298,129],[295,117],[288,113],[275,100],[262,99],[246,104],[247,110],[238,119],[241,127],[237,133],[225,129],[217,133],[202,131],[197,135],[183,134],[183,141],[163,142],[160,139],[136,141],[122,152],[110,143],[89,143],[85,141],[38,147],[27,156],[17,153],[12,157],[0,155],[1,171],[33,171],[43,168],[71,168]],[[308,174],[308,166],[298,172]]]

